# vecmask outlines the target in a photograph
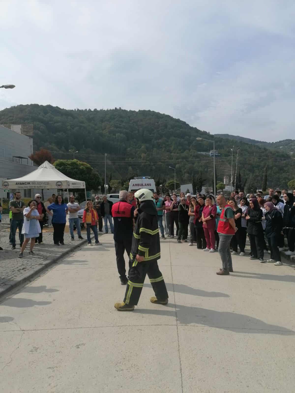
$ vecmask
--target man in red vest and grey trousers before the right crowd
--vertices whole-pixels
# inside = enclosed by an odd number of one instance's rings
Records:
[[[233,272],[229,244],[238,228],[236,228],[234,222],[234,211],[230,205],[226,204],[225,197],[223,195],[218,195],[217,200],[221,210],[217,232],[219,235],[218,252],[222,261],[222,269],[216,272],[216,274],[229,275],[229,272]]]

